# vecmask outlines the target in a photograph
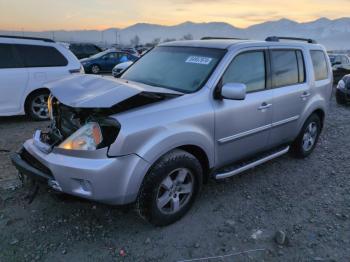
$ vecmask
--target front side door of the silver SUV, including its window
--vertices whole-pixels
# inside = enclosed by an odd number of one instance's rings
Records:
[[[236,55],[221,85],[243,83],[244,100],[214,100],[216,161],[219,166],[250,157],[268,147],[272,123],[272,90],[266,49]]]

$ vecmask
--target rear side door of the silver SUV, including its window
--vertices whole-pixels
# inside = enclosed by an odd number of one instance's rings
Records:
[[[271,147],[291,142],[311,90],[301,49],[270,49],[273,88]]]

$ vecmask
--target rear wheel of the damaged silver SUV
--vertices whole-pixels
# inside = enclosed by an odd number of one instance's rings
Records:
[[[304,123],[298,137],[291,146],[291,153],[297,158],[309,156],[315,149],[322,131],[321,119],[312,114]]]

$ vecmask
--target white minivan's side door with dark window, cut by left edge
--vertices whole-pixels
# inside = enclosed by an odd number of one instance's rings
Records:
[[[0,115],[19,114],[28,71],[12,44],[0,44]]]

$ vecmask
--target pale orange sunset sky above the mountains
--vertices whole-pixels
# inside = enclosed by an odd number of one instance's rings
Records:
[[[101,30],[186,21],[246,28],[281,18],[349,16],[350,0],[0,0],[0,30]]]

